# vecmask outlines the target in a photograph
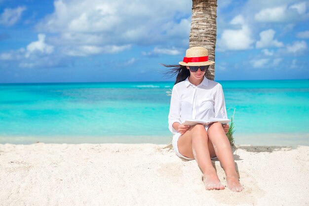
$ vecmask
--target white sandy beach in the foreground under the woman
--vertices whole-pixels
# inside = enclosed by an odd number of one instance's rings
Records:
[[[0,144],[0,206],[309,205],[308,146],[239,146],[241,193],[206,191],[196,162],[163,146]]]

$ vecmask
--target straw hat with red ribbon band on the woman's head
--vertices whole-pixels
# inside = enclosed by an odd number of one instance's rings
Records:
[[[204,66],[214,63],[208,61],[208,50],[201,46],[194,46],[187,49],[184,60],[179,62],[182,66]]]

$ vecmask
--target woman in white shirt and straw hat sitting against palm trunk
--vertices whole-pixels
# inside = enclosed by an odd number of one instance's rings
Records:
[[[229,124],[182,124],[187,119],[228,118],[221,84],[204,77],[209,65],[214,63],[208,61],[206,48],[195,46],[187,49],[180,65],[164,65],[175,67],[169,73],[177,74],[168,115],[169,130],[173,133],[172,145],[177,156],[186,160],[195,159],[207,190],[225,188],[211,163],[211,158],[217,157],[227,175],[228,187],[240,192],[243,187],[239,183],[231,145],[226,136]]]

